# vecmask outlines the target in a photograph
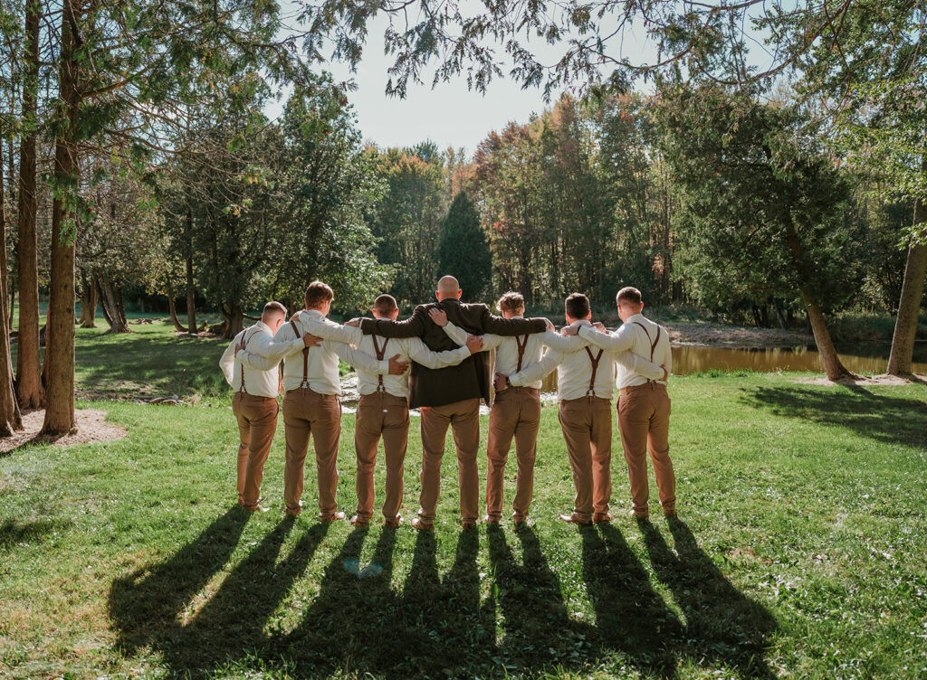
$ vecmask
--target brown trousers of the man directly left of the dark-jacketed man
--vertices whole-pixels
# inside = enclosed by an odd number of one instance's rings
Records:
[[[361,395],[354,425],[357,452],[357,516],[370,521],[374,514],[376,446],[383,435],[387,460],[387,488],[383,516],[396,519],[402,505],[402,466],[409,443],[409,401],[387,392]]]

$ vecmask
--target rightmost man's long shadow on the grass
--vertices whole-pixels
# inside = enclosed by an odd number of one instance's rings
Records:
[[[731,585],[698,547],[686,523],[675,517],[667,523],[676,554],[653,524],[641,523],[641,532],[657,578],[685,615],[685,653],[736,668],[741,677],[775,677],[763,658],[767,638],[777,627],[775,618]]]

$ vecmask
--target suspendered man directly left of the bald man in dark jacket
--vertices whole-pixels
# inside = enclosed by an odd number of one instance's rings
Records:
[[[375,319],[396,321],[400,310],[393,296],[379,296],[372,309]],[[355,321],[356,322],[356,321]],[[417,337],[390,339],[381,335],[364,335],[359,327],[339,326],[317,319],[308,320],[306,328],[320,338],[348,343],[357,349],[383,359],[395,352],[402,361],[413,360],[429,369],[456,366],[478,352],[482,340],[466,337],[457,349],[433,352]],[[561,338],[564,339],[564,338]],[[577,338],[578,339],[578,338]],[[409,442],[409,380],[406,375],[375,375],[359,368],[357,387],[361,400],[354,425],[354,448],[357,452],[357,514],[350,518],[355,526],[370,523],[374,512],[374,470],[376,448],[383,437],[387,462],[387,482],[383,501],[383,516],[387,526],[398,527],[402,505],[402,474],[406,446]]]

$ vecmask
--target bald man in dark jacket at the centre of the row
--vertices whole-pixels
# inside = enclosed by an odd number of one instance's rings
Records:
[[[445,276],[438,281],[438,303],[420,305],[409,319],[364,319],[361,330],[367,335],[390,338],[418,337],[434,351],[454,349],[456,344],[428,315],[432,308],[443,309],[448,318],[470,334],[518,335],[541,333],[543,319],[502,319],[489,313],[486,305],[460,302],[457,280]],[[429,369],[413,362],[410,406],[422,408],[422,493],[421,509],[412,522],[416,529],[434,529],[441,482],[441,459],[448,427],[453,429],[457,447],[460,510],[464,531],[476,525],[479,513],[479,400],[489,403],[489,364],[486,354],[477,353],[457,366]]]

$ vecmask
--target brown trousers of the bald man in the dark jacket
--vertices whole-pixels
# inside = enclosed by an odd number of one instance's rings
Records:
[[[464,399],[446,406],[422,407],[422,493],[419,517],[435,521],[438,492],[441,487],[441,458],[448,426],[454,432],[457,446],[457,473],[460,480],[461,518],[476,522],[479,506],[479,471],[476,451],[479,450],[479,399]]]

